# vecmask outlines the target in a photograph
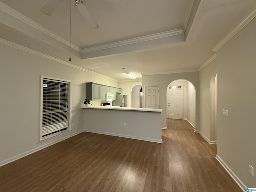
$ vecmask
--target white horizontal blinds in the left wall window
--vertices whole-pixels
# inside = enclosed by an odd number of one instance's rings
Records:
[[[69,82],[43,79],[43,137],[68,128],[69,86]]]

